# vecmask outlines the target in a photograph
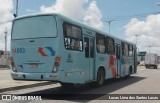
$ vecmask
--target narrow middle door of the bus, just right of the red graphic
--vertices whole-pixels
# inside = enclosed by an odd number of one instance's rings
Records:
[[[121,61],[120,61],[120,45],[116,44],[116,71],[117,76],[120,76],[121,74]]]

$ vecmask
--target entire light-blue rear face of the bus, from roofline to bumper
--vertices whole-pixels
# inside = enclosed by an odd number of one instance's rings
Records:
[[[53,74],[55,57],[59,55],[57,36],[57,21],[53,15],[15,19],[11,38],[12,78],[44,80],[52,77],[45,73]]]

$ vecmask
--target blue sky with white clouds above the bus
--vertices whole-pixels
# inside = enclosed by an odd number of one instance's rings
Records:
[[[7,50],[10,50],[10,31],[16,0],[0,0],[0,50],[4,50],[4,30],[8,31]],[[32,13],[56,12],[80,20],[90,26],[130,42],[139,51],[160,55],[160,0],[19,0],[18,16]],[[156,13],[156,14],[155,14]],[[155,46],[155,47],[154,47]],[[156,47],[159,46],[159,47]]]

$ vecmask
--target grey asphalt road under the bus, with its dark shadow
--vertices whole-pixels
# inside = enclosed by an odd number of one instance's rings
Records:
[[[107,80],[103,87],[77,86],[62,88],[60,84],[52,84],[23,90],[8,91],[5,94],[39,95],[45,101],[27,101],[30,103],[50,102],[107,102],[107,103],[159,103],[160,100],[107,100],[109,95],[118,94],[160,94],[160,69],[138,68],[138,73],[130,78]],[[84,100],[85,99],[85,100]],[[159,98],[160,99],[160,98]],[[46,101],[47,100],[47,101]],[[51,100],[51,101],[48,101]],[[54,101],[53,101],[54,100]],[[55,101],[56,100],[56,101]],[[58,101],[57,101],[58,100]],[[6,101],[5,101],[6,102]],[[11,101],[10,101],[11,102]],[[26,103],[26,101],[12,101]]]

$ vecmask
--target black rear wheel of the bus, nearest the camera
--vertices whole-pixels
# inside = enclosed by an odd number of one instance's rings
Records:
[[[97,73],[97,86],[98,87],[103,86],[104,80],[105,80],[104,70],[99,69]]]

